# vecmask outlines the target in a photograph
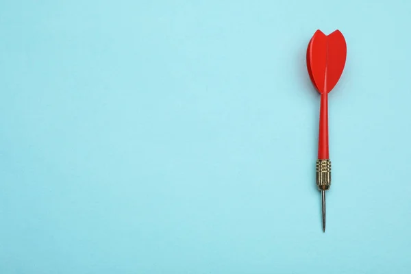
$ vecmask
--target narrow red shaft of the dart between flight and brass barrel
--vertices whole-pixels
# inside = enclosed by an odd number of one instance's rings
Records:
[[[328,93],[321,93],[319,159],[329,159],[328,151]]]

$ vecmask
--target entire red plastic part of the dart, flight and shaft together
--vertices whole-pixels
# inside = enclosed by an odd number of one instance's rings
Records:
[[[336,86],[347,58],[347,44],[336,30],[325,35],[317,30],[307,48],[307,69],[312,84],[321,94],[319,159],[329,159],[328,152],[328,92]]]

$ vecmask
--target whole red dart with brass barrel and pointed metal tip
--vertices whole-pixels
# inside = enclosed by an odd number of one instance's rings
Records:
[[[347,58],[347,44],[336,30],[325,35],[317,30],[307,48],[307,70],[320,94],[319,153],[316,160],[316,186],[321,191],[323,232],[325,232],[325,192],[331,186],[331,161],[328,148],[328,93],[336,86]]]

